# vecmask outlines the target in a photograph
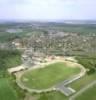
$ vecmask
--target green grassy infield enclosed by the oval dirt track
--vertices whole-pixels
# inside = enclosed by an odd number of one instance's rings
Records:
[[[72,75],[80,72],[80,68],[70,67],[63,62],[47,65],[45,68],[28,71],[21,76],[21,83],[32,89],[50,88]]]

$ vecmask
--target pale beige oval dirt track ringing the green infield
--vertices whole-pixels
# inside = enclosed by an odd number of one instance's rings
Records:
[[[75,75],[75,76],[73,76],[73,77],[71,77],[71,78],[65,80],[64,82],[61,82],[61,83],[60,83],[59,85],[57,85],[57,86],[55,85],[54,87],[51,87],[51,88],[49,88],[49,89],[43,89],[43,90],[30,89],[30,88],[28,88],[28,87],[25,87],[25,86],[22,84],[22,82],[20,81],[20,78],[21,78],[21,76],[22,76],[23,73],[26,73],[26,72],[28,72],[28,71],[30,71],[30,70],[34,70],[34,69],[38,69],[38,68],[44,68],[44,67],[46,67],[46,65],[49,65],[49,64],[52,64],[52,63],[56,63],[56,62],[64,62],[64,63],[70,65],[71,67],[77,66],[77,67],[79,67],[79,68],[81,69],[81,72],[80,72],[79,74],[77,74],[77,75]],[[56,59],[56,60],[49,61],[49,62],[47,62],[47,63],[41,63],[41,64],[39,64],[39,65],[33,66],[32,68],[30,68],[30,69],[28,69],[28,70],[26,70],[26,71],[17,73],[17,74],[16,74],[16,82],[17,82],[18,86],[19,86],[20,88],[22,88],[23,90],[26,89],[28,92],[37,92],[37,93],[41,93],[41,92],[47,92],[47,91],[57,90],[57,87],[58,87],[58,86],[62,87],[62,83],[63,83],[63,85],[68,85],[68,84],[72,83],[73,81],[75,81],[75,80],[81,78],[82,76],[84,76],[85,73],[86,73],[85,68],[84,68],[82,65],[80,65],[80,64],[78,64],[78,63],[76,63],[76,62],[66,61],[65,59]],[[60,89],[60,88],[59,88],[59,89]]]

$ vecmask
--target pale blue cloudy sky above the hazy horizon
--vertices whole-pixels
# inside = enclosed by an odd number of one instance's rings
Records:
[[[96,0],[0,0],[0,20],[96,20]]]

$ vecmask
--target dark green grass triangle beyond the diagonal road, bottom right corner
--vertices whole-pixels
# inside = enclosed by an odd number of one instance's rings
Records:
[[[75,100],[96,100],[96,85],[87,89],[80,96],[76,97]]]

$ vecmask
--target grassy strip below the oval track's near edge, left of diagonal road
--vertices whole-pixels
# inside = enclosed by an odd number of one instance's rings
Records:
[[[48,92],[32,95],[36,100],[68,100],[68,98],[60,92]]]

